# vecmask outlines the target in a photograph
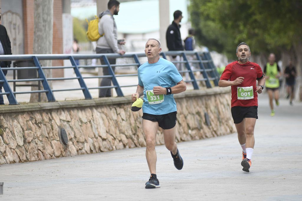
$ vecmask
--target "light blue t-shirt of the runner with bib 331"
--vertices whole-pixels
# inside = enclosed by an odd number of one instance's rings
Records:
[[[173,87],[182,81],[175,65],[166,59],[160,58],[156,63],[144,63],[138,68],[138,84],[144,88],[143,113],[162,115],[177,111],[173,94],[163,95],[164,101],[158,104],[149,104],[146,90],[153,90],[155,86]]]

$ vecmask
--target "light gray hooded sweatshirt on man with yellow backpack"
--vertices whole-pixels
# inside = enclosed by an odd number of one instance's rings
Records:
[[[97,47],[101,49],[112,49],[114,53],[118,53],[117,46],[117,27],[113,15],[106,10],[98,15],[98,33],[103,35],[97,41]]]

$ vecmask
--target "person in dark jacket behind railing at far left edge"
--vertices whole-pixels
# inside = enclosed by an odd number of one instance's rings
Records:
[[[1,19],[1,16],[0,16]],[[6,28],[0,24],[0,55],[11,54],[11,41],[9,40]],[[1,68],[11,67],[11,61],[1,61]],[[7,70],[3,71],[4,75],[7,74]],[[0,93],[2,93],[3,83],[0,83]],[[0,105],[4,105],[3,95],[0,95]]]

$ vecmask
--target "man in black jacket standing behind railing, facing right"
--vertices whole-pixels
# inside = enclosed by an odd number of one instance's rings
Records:
[[[175,11],[173,13],[174,20],[172,24],[169,25],[167,32],[166,32],[166,41],[167,47],[169,51],[182,51],[184,50],[184,46],[182,45],[182,38],[180,35],[180,22],[182,21],[182,11]],[[180,56],[172,56],[171,61],[180,61]],[[176,65],[177,70],[181,70],[182,65],[177,63]]]

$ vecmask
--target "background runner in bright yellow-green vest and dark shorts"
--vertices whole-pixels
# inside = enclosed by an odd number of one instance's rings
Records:
[[[276,105],[279,105],[279,78],[281,71],[277,63],[275,62],[275,54],[271,53],[268,57],[268,63],[264,67],[265,73],[265,87],[269,97],[269,105],[271,107],[271,116],[275,115],[273,96],[276,101]]]

